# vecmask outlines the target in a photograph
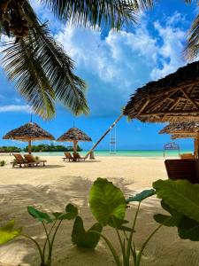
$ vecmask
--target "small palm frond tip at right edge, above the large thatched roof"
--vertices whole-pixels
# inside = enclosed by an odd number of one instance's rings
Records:
[[[199,15],[196,16],[188,31],[188,43],[185,48],[185,55],[189,60],[195,59],[199,55]]]

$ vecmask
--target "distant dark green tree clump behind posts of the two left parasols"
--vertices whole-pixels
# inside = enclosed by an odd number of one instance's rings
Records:
[[[64,145],[32,145],[31,148],[33,153],[45,153],[45,152],[73,152],[73,146]],[[78,145],[77,151],[81,152],[82,149]],[[24,152],[28,152],[28,146],[24,148]]]

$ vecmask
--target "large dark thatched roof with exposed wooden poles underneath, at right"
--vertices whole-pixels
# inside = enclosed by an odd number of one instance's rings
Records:
[[[199,61],[137,89],[124,114],[149,122],[199,121]]]

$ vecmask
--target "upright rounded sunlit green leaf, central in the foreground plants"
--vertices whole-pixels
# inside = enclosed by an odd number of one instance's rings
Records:
[[[126,200],[118,187],[105,178],[97,178],[89,193],[89,206],[96,220],[103,226],[108,224],[111,215],[124,219]]]

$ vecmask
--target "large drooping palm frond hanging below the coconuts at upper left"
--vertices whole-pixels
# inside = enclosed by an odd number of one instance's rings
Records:
[[[41,25],[31,6],[23,6],[30,25],[28,35],[4,51],[4,69],[34,112],[44,119],[55,114],[55,100],[75,115],[88,113],[86,84],[73,74],[73,60]]]

